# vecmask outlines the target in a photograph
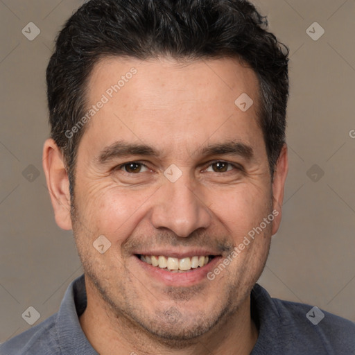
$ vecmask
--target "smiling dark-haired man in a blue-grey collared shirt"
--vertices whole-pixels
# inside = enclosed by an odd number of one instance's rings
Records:
[[[85,276],[1,354],[355,354],[353,322],[256,284],[288,171],[288,50],[266,25],[241,0],[67,21],[44,171]]]

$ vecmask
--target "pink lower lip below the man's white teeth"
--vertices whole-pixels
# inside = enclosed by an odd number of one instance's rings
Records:
[[[139,266],[148,272],[150,277],[157,279],[159,282],[164,282],[167,286],[191,286],[202,282],[204,279],[208,280],[207,274],[214,269],[222,257],[214,257],[207,265],[202,266],[202,268],[191,269],[192,271],[189,272],[170,272],[141,261],[136,255],[135,259]]]

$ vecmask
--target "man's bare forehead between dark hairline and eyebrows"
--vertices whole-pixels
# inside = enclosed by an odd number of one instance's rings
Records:
[[[239,97],[254,102],[246,112],[235,103]],[[89,78],[88,110],[100,101],[83,137],[92,148],[124,138],[173,152],[222,138],[253,146],[261,137],[257,76],[234,58],[105,58]]]

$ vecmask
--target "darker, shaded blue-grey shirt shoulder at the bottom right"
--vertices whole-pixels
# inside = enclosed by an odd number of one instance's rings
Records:
[[[355,354],[355,323],[316,306],[272,298],[257,285],[266,329],[277,327],[275,337],[284,354]],[[261,297],[260,297],[261,296]],[[267,310],[266,310],[267,309]]]

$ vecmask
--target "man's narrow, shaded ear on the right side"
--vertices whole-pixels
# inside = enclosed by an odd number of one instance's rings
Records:
[[[282,202],[284,200],[284,188],[286,182],[286,176],[288,173],[288,154],[287,146],[284,144],[282,147],[279,159],[277,159],[277,165],[274,172],[274,180],[272,182],[272,200],[273,200],[273,210],[275,212],[275,219],[272,222],[272,235],[274,235],[277,230],[279,230],[279,225],[281,223],[282,216]]]

